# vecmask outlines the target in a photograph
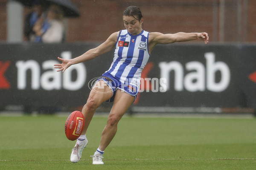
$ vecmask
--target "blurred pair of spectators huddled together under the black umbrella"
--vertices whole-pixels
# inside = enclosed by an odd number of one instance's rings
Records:
[[[33,0],[32,11],[26,15],[24,37],[29,42],[64,42],[64,13],[60,6],[44,0]]]

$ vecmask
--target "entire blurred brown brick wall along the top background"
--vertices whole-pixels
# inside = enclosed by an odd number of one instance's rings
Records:
[[[7,1],[0,0],[0,41],[6,40]],[[71,1],[79,8],[81,17],[67,19],[67,42],[106,40],[113,32],[124,29],[122,12],[131,5],[140,7],[143,29],[150,32],[206,31],[214,42],[256,42],[256,0],[225,0],[224,37],[220,34],[220,0]],[[24,16],[29,10],[24,8]]]

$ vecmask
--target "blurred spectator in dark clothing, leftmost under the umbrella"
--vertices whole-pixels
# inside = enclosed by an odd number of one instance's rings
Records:
[[[24,38],[26,41],[32,41],[35,37],[33,27],[35,22],[45,13],[46,6],[43,0],[33,0],[32,12],[26,15],[24,21]]]

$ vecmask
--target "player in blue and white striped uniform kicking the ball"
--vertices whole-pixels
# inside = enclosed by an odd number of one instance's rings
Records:
[[[136,99],[140,88],[141,72],[155,45],[190,40],[202,40],[207,44],[209,40],[206,32],[162,34],[144,31],[142,28],[143,16],[140,8],[136,6],[126,8],[122,14],[122,19],[125,26],[124,30],[114,32],[101,45],[88,50],[79,57],[73,59],[58,57],[62,63],[55,64],[55,68],[58,68],[57,71],[64,72],[71,65],[86,62],[115,48],[113,62],[109,70],[98,79],[81,111],[84,115],[85,124],[70,156],[70,161],[73,163],[81,159],[81,153],[88,143],[86,130],[96,108],[102,102],[113,101],[107,124],[102,131],[99,147],[92,156],[93,164],[104,164],[102,161],[103,153],[116,134],[119,120]]]

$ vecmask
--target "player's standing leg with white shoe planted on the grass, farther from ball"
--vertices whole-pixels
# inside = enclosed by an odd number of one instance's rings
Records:
[[[112,109],[108,115],[107,125],[102,131],[102,137],[100,144],[93,157],[93,164],[104,164],[102,161],[103,153],[108,144],[112,141],[117,131],[117,124],[122,116],[125,114],[127,109],[134,102],[134,96],[127,94],[120,89],[116,91],[116,96]]]

